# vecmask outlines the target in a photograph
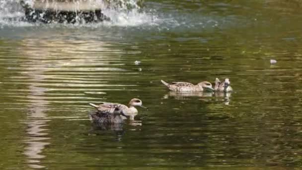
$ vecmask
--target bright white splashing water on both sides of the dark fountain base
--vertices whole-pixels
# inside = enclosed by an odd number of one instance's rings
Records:
[[[27,4],[32,5],[34,0],[26,0]],[[157,25],[159,22],[155,12],[144,11],[142,8],[142,0],[113,0],[106,3],[104,0],[96,0],[97,3],[102,3],[106,6],[102,12],[111,20],[101,23],[76,23],[73,26],[140,26],[140,25]],[[106,5],[104,5],[104,3]],[[19,3],[19,0],[0,0],[0,27],[3,26],[37,26],[41,23],[30,23],[24,21],[24,10]],[[70,24],[58,24],[70,25]]]

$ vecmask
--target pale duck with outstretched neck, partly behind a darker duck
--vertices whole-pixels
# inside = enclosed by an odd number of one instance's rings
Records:
[[[129,107],[124,104],[119,103],[109,103],[109,102],[101,102],[100,105],[95,105],[93,103],[89,103],[92,107],[96,108],[99,112],[108,112],[108,113],[114,113],[115,108],[120,108],[122,110],[121,118],[127,119],[129,117],[130,120],[134,120],[134,117],[138,115],[138,110],[135,108],[135,106],[140,106],[145,109],[148,109],[147,107],[143,106],[142,100],[138,98],[133,98],[129,102]]]

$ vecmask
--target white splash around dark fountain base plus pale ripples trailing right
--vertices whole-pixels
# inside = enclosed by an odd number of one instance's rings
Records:
[[[26,0],[26,3],[33,4],[34,0]],[[68,27],[68,28],[131,28],[147,29],[156,31],[186,31],[187,29],[200,32],[201,30],[214,30],[219,27],[229,26],[237,21],[231,16],[221,17],[205,13],[186,13],[186,9],[167,8],[164,5],[154,2],[141,4],[143,0],[91,0],[100,3],[104,7],[102,13],[110,18],[110,21],[74,24],[50,23],[24,21],[24,9],[19,0],[0,0],[0,29],[7,27]],[[91,2],[89,0],[89,2]],[[169,2],[166,2],[169,3]],[[170,4],[174,6],[174,4]]]

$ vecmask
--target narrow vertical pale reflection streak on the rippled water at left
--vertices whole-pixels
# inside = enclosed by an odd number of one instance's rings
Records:
[[[31,64],[35,64],[35,61],[38,60],[30,60]],[[38,64],[38,63],[37,63]],[[29,113],[27,115],[27,120],[25,123],[28,125],[27,134],[28,137],[24,141],[27,144],[25,147],[24,155],[27,156],[26,162],[28,166],[33,169],[41,169],[45,168],[45,166],[41,165],[41,159],[45,158],[42,154],[45,146],[49,145],[49,142],[46,140],[50,139],[48,137],[48,133],[45,127],[48,126],[47,122],[50,120],[47,119],[47,105],[49,102],[47,100],[40,99],[39,96],[43,96],[47,88],[38,87],[36,82],[42,82],[44,80],[43,71],[36,68],[35,71],[28,74],[31,77],[30,81],[34,82],[29,86],[30,95],[28,98],[31,99],[31,103],[29,104]]]

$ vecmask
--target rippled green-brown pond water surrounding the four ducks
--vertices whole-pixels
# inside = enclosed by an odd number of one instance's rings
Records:
[[[4,19],[22,10],[2,1],[0,169],[301,168],[301,9],[146,0],[111,22],[43,25]],[[160,83],[216,77],[234,91],[181,95]],[[131,98],[149,107],[135,122],[89,121],[87,103]]]

